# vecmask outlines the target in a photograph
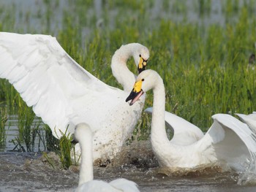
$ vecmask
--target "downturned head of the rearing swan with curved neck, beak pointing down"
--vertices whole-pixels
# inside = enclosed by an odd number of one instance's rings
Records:
[[[137,64],[137,69],[140,74],[140,72],[143,72],[147,66],[149,58],[148,48],[138,43],[137,48],[134,50],[133,58],[135,59],[135,64]]]

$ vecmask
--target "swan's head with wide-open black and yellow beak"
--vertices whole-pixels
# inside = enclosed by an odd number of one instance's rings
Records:
[[[142,96],[143,93],[146,93],[146,91],[154,88],[156,85],[155,83],[158,82],[158,80],[162,80],[162,78],[159,77],[157,72],[151,69],[141,72],[136,79],[135,85],[132,88],[132,92],[129,94],[125,101],[132,100],[129,105],[134,104],[135,101],[140,99],[140,96]]]

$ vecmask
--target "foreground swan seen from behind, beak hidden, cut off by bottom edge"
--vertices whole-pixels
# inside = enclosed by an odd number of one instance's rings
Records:
[[[75,139],[78,140],[81,149],[81,163],[79,184],[76,191],[89,192],[138,192],[137,184],[126,179],[113,180],[106,183],[102,180],[94,179],[93,168],[93,142],[91,128],[86,123],[80,123],[75,128]]]

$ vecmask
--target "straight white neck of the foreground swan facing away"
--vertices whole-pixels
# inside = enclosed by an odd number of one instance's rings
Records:
[[[79,174],[79,185],[94,179],[92,135],[84,134],[83,140],[79,141],[81,149],[81,163]]]

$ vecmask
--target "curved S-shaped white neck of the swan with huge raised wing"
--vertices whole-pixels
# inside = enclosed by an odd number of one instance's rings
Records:
[[[129,71],[127,60],[133,55],[136,44],[121,46],[112,57],[111,69],[113,76],[123,86],[124,91],[130,91],[135,83],[135,75]]]

